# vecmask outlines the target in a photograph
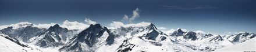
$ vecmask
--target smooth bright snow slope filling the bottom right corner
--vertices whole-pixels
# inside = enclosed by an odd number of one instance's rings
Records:
[[[247,40],[246,42],[236,44],[234,46],[223,47],[215,52],[243,52],[256,51],[256,38]]]

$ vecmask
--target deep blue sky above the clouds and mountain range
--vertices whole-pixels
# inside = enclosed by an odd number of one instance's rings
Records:
[[[150,22],[168,29],[185,28],[211,33],[256,33],[255,0],[1,0],[0,25],[122,21],[139,9],[133,23]]]

